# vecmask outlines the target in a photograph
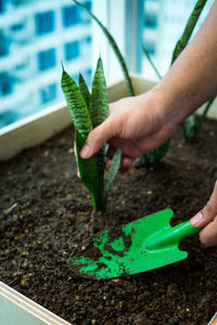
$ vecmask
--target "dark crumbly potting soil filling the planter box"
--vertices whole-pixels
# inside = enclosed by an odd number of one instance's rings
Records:
[[[82,278],[68,258],[115,225],[164,208],[174,209],[173,223],[199,211],[217,179],[217,122],[206,120],[192,144],[178,130],[161,164],[119,174],[103,216],[76,177],[72,138],[66,129],[0,165],[0,280],[72,324],[207,324],[217,310],[217,248],[197,235],[181,243],[184,261],[128,277]]]

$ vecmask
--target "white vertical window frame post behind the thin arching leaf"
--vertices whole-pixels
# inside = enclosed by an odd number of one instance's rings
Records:
[[[141,72],[143,0],[92,0],[92,11],[108,28],[123,54],[128,70]],[[93,67],[98,57],[103,60],[107,82],[123,78],[119,63],[106,37],[93,23]]]

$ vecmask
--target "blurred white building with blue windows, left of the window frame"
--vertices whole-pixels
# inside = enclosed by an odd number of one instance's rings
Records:
[[[0,0],[0,127],[63,101],[61,61],[90,81],[90,26],[71,0]]]

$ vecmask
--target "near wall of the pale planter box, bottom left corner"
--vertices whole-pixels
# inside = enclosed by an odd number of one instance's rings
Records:
[[[1,325],[71,325],[0,282]]]

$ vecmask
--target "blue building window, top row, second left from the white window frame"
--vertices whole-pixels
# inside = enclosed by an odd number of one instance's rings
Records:
[[[36,35],[43,35],[54,30],[54,12],[47,11],[35,16]]]

